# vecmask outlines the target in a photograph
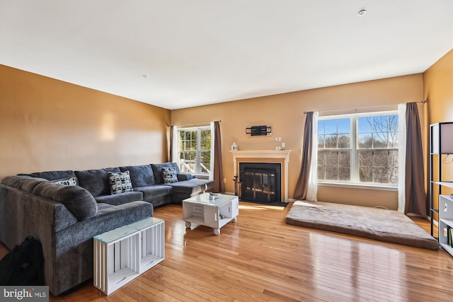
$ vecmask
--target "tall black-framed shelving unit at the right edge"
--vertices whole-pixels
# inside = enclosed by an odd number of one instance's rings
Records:
[[[453,188],[453,182],[442,180],[442,156],[453,154],[453,122],[439,122],[430,125],[430,219],[431,236],[439,239],[439,234],[434,234],[435,214],[440,219],[439,196],[442,187]],[[435,168],[437,168],[435,171]],[[437,172],[437,173],[436,173]],[[436,194],[435,194],[436,190]],[[437,209],[436,209],[437,206]],[[440,226],[438,226],[439,232]]]

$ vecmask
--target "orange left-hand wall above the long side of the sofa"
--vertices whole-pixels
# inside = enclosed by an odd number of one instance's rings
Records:
[[[170,111],[0,65],[0,179],[167,160]]]

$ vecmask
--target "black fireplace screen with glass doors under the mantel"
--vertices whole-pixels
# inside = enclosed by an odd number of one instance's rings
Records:
[[[277,165],[280,168],[280,165]],[[241,168],[241,199],[251,202],[281,201],[280,170],[277,170],[277,168],[260,168],[256,163]]]

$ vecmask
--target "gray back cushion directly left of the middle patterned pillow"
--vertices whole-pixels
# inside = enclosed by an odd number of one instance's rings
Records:
[[[94,197],[110,194],[108,172],[120,172],[120,168],[75,171],[79,186],[84,187]]]

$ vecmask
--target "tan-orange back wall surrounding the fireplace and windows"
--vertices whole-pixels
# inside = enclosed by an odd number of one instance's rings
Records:
[[[361,108],[374,105],[393,105],[418,102],[423,99],[423,75],[413,74],[391,79],[351,83],[328,88],[297,91],[263,98],[251,98],[227,103],[205,105],[171,111],[172,124],[192,124],[221,120],[222,151],[226,191],[234,192],[233,159],[230,146],[236,142],[239,150],[271,150],[280,146],[281,137],[289,156],[289,197],[292,198],[302,162],[304,111]],[[419,106],[423,110],[423,105]],[[266,124],[272,126],[272,136],[251,137],[246,127]],[[398,207],[395,191],[370,191],[319,187],[318,199],[367,206]]]

